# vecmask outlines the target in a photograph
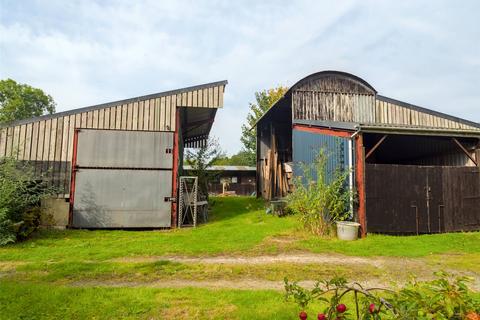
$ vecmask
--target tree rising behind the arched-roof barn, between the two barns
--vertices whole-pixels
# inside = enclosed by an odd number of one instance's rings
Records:
[[[243,150],[246,153],[248,165],[255,165],[257,153],[257,128],[253,126],[268,109],[270,109],[288,91],[287,87],[263,90],[255,93],[255,103],[250,103],[250,112],[247,115],[247,123],[242,125]]]

